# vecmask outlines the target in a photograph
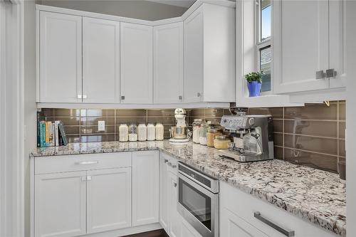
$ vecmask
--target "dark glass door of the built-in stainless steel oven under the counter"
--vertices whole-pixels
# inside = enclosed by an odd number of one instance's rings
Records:
[[[211,231],[211,197],[179,177],[178,201]],[[201,187],[201,189],[204,189]]]

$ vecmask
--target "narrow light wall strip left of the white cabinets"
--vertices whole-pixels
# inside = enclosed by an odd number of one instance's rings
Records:
[[[36,9],[34,0],[24,1],[25,17],[25,236],[30,236],[30,167],[28,154],[36,148]]]

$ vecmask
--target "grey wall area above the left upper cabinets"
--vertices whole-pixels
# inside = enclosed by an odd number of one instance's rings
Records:
[[[147,21],[182,16],[182,14],[187,11],[186,8],[180,6],[138,0],[42,0],[41,4],[80,11],[92,11],[100,14],[125,16]]]

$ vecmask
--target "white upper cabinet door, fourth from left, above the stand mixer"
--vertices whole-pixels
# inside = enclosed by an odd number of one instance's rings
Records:
[[[154,102],[179,103],[183,98],[183,23],[153,28]]]

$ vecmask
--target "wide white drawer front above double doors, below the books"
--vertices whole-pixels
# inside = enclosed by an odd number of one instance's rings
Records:
[[[131,167],[132,152],[36,157],[35,174]]]

